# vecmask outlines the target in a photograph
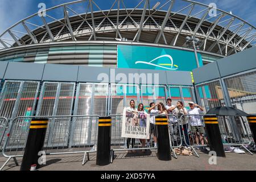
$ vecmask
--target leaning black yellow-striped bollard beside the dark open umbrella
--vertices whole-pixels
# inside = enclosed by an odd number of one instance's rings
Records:
[[[217,116],[204,115],[204,123],[208,134],[210,151],[215,151],[217,156],[225,157]]]

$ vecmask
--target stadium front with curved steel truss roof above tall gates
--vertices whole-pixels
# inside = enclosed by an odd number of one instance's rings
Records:
[[[8,28],[0,36],[0,116],[117,114],[131,99],[148,106],[152,101],[165,103],[167,97],[185,106],[200,102],[206,109],[230,105],[221,82],[195,89],[191,71],[197,61],[186,38],[200,40],[202,69],[215,69],[216,60],[254,46],[255,27],[220,9],[211,16],[212,7],[198,2],[152,3],[142,0],[131,8],[115,0],[101,9],[97,1],[75,1]],[[102,81],[101,73],[109,78]],[[117,79],[118,73],[158,73],[159,79],[131,83]],[[208,73],[197,77],[198,84],[207,81],[202,77]],[[228,85],[234,101],[248,95],[250,103],[256,100],[255,90],[245,90],[241,79],[236,83],[242,86]]]

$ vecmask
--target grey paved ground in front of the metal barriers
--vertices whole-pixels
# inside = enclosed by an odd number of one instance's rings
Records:
[[[96,166],[96,153],[90,154],[90,160],[82,166],[82,154],[72,155],[49,155],[47,156],[46,166],[39,169],[42,171],[100,171],[100,170],[256,170],[256,154],[235,154],[226,153],[226,158],[217,158],[216,165],[208,163],[209,155],[199,152],[200,158],[196,156],[177,156],[171,161],[160,161],[155,151],[147,151],[146,153],[137,152],[136,154],[126,154],[126,152],[118,152],[115,159],[108,166]],[[21,163],[22,158],[18,158]],[[6,161],[6,158],[0,157],[0,166]],[[7,164],[3,170],[18,171],[20,166],[15,166],[13,160]]]

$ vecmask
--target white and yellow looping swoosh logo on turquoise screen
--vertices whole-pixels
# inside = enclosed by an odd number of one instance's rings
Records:
[[[160,58],[166,57],[167,59],[164,59],[164,63],[157,63],[155,64],[154,61],[158,61]],[[172,59],[172,56],[170,55],[162,55],[159,57],[156,57],[155,59],[147,62],[147,61],[136,61],[135,64],[147,64],[147,65],[152,65],[155,67],[159,67],[159,68],[164,68],[164,69],[169,69],[169,70],[176,70],[179,67],[177,65],[174,64],[174,60]]]

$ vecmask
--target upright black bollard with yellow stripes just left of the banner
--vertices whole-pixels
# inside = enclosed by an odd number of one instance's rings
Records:
[[[96,165],[105,166],[110,164],[110,130],[111,117],[100,117],[98,119],[98,144]]]

